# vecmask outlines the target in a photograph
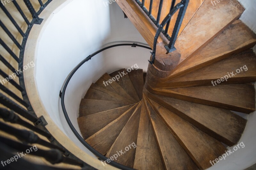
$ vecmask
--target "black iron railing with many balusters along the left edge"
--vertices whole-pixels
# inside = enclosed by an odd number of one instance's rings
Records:
[[[0,104],[2,104],[0,107],[0,118],[4,120],[0,121],[0,158],[3,161],[10,159],[13,157],[13,154],[17,155],[17,152],[25,152],[27,149],[31,148],[31,144],[38,144],[39,146],[50,148],[50,150],[38,148],[36,152],[31,152],[31,155],[42,157],[52,164],[66,163],[81,166],[85,169],[94,169],[92,166],[89,166],[65,149],[50,134],[45,127],[47,122],[45,121],[44,117],[36,116],[29,102],[25,89],[23,78],[23,57],[28,35],[34,24],[42,23],[43,19],[39,18],[39,14],[51,1],[52,0],[44,0],[43,3],[42,0],[38,0],[38,7],[40,7],[37,12],[30,0],[23,0],[23,2],[15,0],[11,1],[13,3],[12,7],[12,4],[4,4],[4,1],[0,2],[0,8],[5,14],[5,16],[4,14],[1,14],[1,18],[3,19],[3,17],[7,17],[4,18],[4,20],[0,20],[0,26],[5,32],[5,38],[0,38],[0,44],[3,47],[3,50],[0,52],[0,64],[4,65],[5,67],[0,68],[0,75],[6,79],[6,82],[8,80],[8,83],[12,84],[12,86],[7,86],[2,80],[0,82],[0,90],[2,90],[2,92],[0,92]],[[26,5],[29,15],[28,13],[25,14],[21,10],[21,2]],[[33,3],[35,4],[36,2],[33,1]],[[22,30],[22,27],[18,24],[20,23],[20,18],[15,19],[15,16],[11,14],[13,12],[13,7],[17,9],[20,16],[24,19],[22,22],[26,24],[25,32],[23,31],[24,27]],[[8,29],[8,26],[10,27],[10,25],[6,24],[6,19],[8,19],[9,23],[12,24],[11,30]],[[18,35],[15,34],[14,36],[13,30],[15,30],[14,32],[16,32]],[[4,35],[4,32],[1,32],[1,35]],[[22,39],[19,38],[20,35]],[[10,40],[6,39],[7,36],[12,41],[11,43]],[[11,46],[14,45],[14,47],[10,47],[10,44]],[[18,52],[16,47],[19,50]],[[17,55],[18,53],[19,55]],[[9,57],[12,59],[10,60]],[[11,78],[10,75],[7,74],[8,72],[12,72],[13,76],[15,74],[15,76],[17,76],[19,79],[19,82],[14,81],[13,77]],[[21,96],[17,95],[17,90],[20,92]],[[23,129],[20,129],[20,126],[23,127]],[[18,138],[19,141],[6,137],[6,135],[3,135],[3,132]],[[40,138],[39,135],[36,135],[36,133],[44,136],[47,140]],[[21,169],[24,167],[28,167],[27,169],[31,167],[33,167],[32,169],[60,169],[36,165],[23,159],[7,165],[8,166],[3,167],[2,165],[0,166],[4,169],[18,169],[20,166],[22,166]]]

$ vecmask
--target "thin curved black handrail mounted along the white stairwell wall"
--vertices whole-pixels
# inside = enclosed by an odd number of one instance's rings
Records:
[[[132,46],[132,47],[142,47],[142,48],[147,48],[149,50],[152,50],[150,47],[148,46],[142,46],[142,45],[138,45],[138,44],[116,44],[116,45],[112,45],[112,46],[107,46],[105,48],[102,48],[98,51],[96,51],[95,53],[92,53],[91,55],[89,55],[88,57],[86,57],[82,62],[80,62],[76,67],[75,69],[70,73],[70,75],[68,76],[64,86],[63,86],[63,89],[62,89],[62,92],[60,92],[60,97],[61,97],[61,107],[62,107],[62,110],[63,110],[63,113],[64,113],[64,116],[66,118],[66,121],[68,123],[68,126],[70,127],[70,129],[73,131],[73,133],[75,134],[76,138],[78,138],[78,140],[87,148],[89,149],[89,151],[91,151],[94,155],[96,155],[97,157],[99,157],[101,160],[105,161],[107,160],[108,158],[105,157],[104,155],[102,155],[100,152],[96,151],[94,148],[92,148],[92,146],[90,146],[87,142],[85,142],[85,140],[79,135],[79,133],[76,131],[75,127],[73,126],[73,124],[71,123],[69,117],[68,117],[68,113],[67,113],[67,110],[65,108],[65,103],[64,103],[64,97],[65,97],[65,91],[67,89],[67,86],[68,86],[68,83],[69,81],[71,80],[72,76],[76,73],[76,71],[87,61],[91,60],[93,56],[95,56],[96,54],[98,53],[101,53],[102,51],[104,50],[107,50],[109,48],[113,48],[113,47],[116,47],[116,46]],[[117,162],[114,162],[114,161],[110,161],[109,163],[110,165],[112,166],[115,166],[116,168],[119,168],[119,169],[124,169],[124,170],[133,170],[132,168],[130,167],[127,167],[127,166],[124,166],[124,165],[121,165]]]

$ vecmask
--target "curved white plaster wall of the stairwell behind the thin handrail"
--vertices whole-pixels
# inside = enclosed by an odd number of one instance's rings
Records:
[[[116,3],[104,6],[106,0],[73,0],[54,16],[43,29],[38,40],[36,56],[36,83],[41,100],[52,120],[85,152],[69,128],[63,115],[59,91],[68,74],[79,62],[104,44],[112,41],[146,43],[129,19],[124,19]],[[65,96],[69,118],[79,132],[77,117],[81,98],[105,72],[138,64],[146,72],[149,50],[139,47],[115,47],[94,56],[71,79]],[[80,133],[80,132],[79,132]]]

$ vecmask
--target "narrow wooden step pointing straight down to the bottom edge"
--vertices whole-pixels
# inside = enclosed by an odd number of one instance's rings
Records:
[[[144,103],[141,105],[140,124],[133,168],[140,170],[164,170],[164,165]]]

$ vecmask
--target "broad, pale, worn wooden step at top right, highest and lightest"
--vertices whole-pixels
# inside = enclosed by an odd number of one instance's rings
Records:
[[[244,7],[237,0],[221,1],[215,6],[212,0],[205,0],[176,40],[175,47],[181,53],[180,63],[204,47],[243,12]]]

